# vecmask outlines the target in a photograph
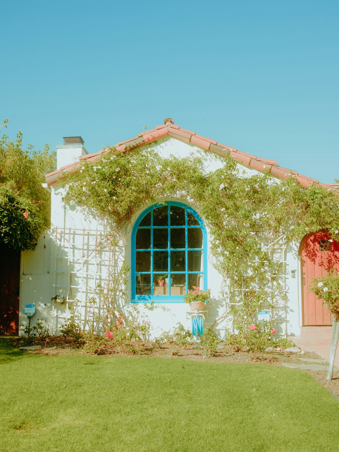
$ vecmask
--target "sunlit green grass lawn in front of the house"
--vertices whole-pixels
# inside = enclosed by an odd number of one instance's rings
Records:
[[[0,344],[0,451],[338,451],[339,403],[308,374]]]

